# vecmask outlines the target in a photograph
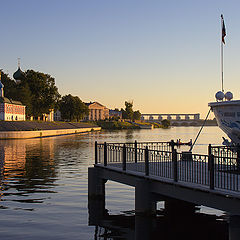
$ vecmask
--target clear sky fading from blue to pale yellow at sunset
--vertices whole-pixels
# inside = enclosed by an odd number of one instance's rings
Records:
[[[0,68],[50,74],[61,95],[110,109],[200,113],[240,97],[238,0],[0,0]],[[212,114],[213,117],[213,114]]]

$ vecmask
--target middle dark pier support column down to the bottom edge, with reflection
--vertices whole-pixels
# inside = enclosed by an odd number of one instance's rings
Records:
[[[135,239],[149,239],[154,227],[156,200],[147,180],[139,180],[135,187]]]

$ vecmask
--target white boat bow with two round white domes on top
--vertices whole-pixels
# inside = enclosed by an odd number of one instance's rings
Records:
[[[231,139],[231,145],[240,145],[240,100],[232,100],[232,93],[216,93],[216,102],[211,102],[208,106],[213,111],[218,126]],[[224,100],[225,99],[225,100]],[[227,141],[224,141],[225,145]]]

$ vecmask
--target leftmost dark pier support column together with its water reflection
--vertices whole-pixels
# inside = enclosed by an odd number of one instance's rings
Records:
[[[105,183],[99,169],[88,168],[88,213],[89,225],[99,225],[105,210]]]

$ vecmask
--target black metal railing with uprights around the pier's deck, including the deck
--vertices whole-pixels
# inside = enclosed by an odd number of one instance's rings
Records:
[[[208,155],[177,152],[171,142],[95,143],[95,164],[146,176],[240,191],[238,154],[209,145]]]

